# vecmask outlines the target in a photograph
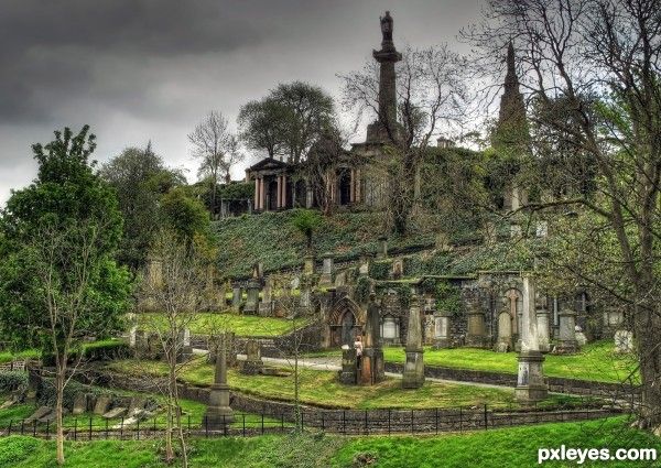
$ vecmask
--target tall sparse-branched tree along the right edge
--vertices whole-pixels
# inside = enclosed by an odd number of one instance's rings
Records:
[[[661,432],[661,0],[492,0],[484,23],[466,35],[481,47],[514,37],[537,112],[564,144],[594,160],[597,189],[561,196],[600,217],[617,239],[637,340],[640,425]],[[533,142],[535,138],[533,135]],[[548,140],[545,140],[548,143]],[[611,290],[604,277],[586,279]]]

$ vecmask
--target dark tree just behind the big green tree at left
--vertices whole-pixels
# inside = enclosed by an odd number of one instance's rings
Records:
[[[151,148],[127,148],[104,164],[99,175],[117,192],[123,215],[123,236],[118,260],[132,271],[144,266],[147,251],[159,229],[160,198],[172,187],[185,184],[184,176],[165,167]]]

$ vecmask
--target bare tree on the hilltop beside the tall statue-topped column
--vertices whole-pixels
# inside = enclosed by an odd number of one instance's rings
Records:
[[[398,121],[379,115],[378,65],[369,61],[360,72],[340,75],[343,106],[356,115],[376,115],[387,134],[384,172],[388,174],[389,210],[393,228],[404,233],[409,216],[420,198],[416,175],[433,137],[460,123],[465,116],[465,61],[446,45],[407,47],[397,66]]]

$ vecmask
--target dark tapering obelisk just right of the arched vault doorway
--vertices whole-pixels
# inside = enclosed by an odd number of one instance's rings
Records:
[[[386,379],[383,366],[383,350],[381,345],[381,325],[379,306],[371,294],[367,305],[367,320],[365,323],[365,342],[358,383],[373,385]]]

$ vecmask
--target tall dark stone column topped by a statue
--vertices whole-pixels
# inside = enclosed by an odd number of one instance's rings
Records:
[[[392,42],[393,21],[390,11],[381,17],[381,50],[372,56],[379,63],[379,116],[367,127],[367,143],[392,143],[399,137],[394,64],[402,59]]]

